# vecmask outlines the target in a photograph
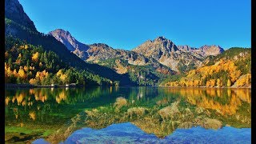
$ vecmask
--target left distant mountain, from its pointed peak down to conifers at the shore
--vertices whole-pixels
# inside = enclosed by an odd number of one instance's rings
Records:
[[[166,74],[174,74],[173,70],[163,66],[154,58],[146,58],[134,51],[114,49],[103,43],[76,45],[74,43],[81,42],[66,30],[57,29],[50,31],[49,34],[74,54],[77,54],[76,51],[84,54],[85,57],[82,59],[86,62],[109,67],[118,74],[128,74],[130,79],[139,85],[155,85],[161,78],[166,78]],[[81,46],[87,46],[88,49],[82,49]]]

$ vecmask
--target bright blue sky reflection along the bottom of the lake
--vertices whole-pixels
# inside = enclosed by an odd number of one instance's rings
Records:
[[[206,130],[200,126],[177,129],[165,138],[146,134],[130,122],[113,124],[100,130],[76,130],[63,143],[251,143],[251,129],[225,126],[219,130]],[[38,139],[34,144],[47,143]]]

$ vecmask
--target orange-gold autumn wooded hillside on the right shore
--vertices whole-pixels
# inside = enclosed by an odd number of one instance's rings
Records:
[[[251,49],[230,48],[204,61],[181,78],[166,79],[161,86],[250,87]]]

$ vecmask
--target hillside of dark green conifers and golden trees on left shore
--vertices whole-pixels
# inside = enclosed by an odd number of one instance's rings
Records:
[[[57,54],[43,50],[42,46],[34,46],[13,37],[6,37],[5,42],[6,83],[118,85],[118,82],[66,65]]]

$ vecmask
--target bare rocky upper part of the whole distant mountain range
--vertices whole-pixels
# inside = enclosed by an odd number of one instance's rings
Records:
[[[98,43],[86,45],[78,42],[69,31],[57,29],[50,31],[59,42],[62,42],[68,50],[78,55],[86,62],[98,63],[110,58],[120,58],[129,64],[146,66],[150,63],[168,66],[176,72],[183,72],[183,66],[201,66],[202,58],[209,55],[221,54],[224,50],[220,46],[202,46],[193,48],[190,46],[176,46],[174,42],[164,37],[148,40],[133,50],[114,49],[106,44]],[[156,62],[160,64],[155,64]]]

